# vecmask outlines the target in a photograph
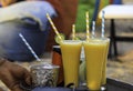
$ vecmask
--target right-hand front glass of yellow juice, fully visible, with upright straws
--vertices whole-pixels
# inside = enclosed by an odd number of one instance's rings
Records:
[[[102,39],[90,39],[84,41],[83,46],[86,61],[86,87],[90,90],[100,90],[106,43]]]

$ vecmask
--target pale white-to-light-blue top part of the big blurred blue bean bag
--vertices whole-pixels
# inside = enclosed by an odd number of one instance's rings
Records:
[[[49,22],[45,13],[49,13],[51,18],[58,16],[52,4],[47,1],[22,1],[0,9],[0,22],[31,18],[39,23],[41,30],[47,30]],[[25,22],[29,23],[30,20]]]

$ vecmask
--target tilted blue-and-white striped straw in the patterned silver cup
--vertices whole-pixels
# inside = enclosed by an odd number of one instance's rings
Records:
[[[19,33],[19,37],[22,39],[22,41],[24,42],[24,44],[28,47],[28,49],[31,51],[31,53],[33,54],[33,57],[37,59],[37,61],[41,61],[39,59],[39,57],[35,54],[35,52],[33,51],[33,49],[31,48],[31,46],[28,43],[28,41],[25,40],[25,38]]]

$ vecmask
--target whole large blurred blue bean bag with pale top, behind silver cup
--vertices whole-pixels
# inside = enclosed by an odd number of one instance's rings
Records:
[[[3,50],[0,54],[13,61],[34,59],[19,38],[18,33],[21,32],[34,52],[39,57],[42,55],[50,30],[47,12],[51,18],[57,16],[52,6],[47,1],[23,1],[0,9],[0,46]]]

